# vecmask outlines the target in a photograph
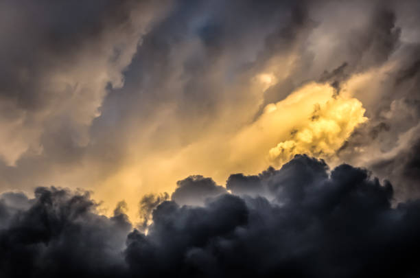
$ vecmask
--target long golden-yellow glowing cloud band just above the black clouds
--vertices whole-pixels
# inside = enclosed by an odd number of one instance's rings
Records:
[[[263,76],[263,81],[275,80],[268,77]],[[176,181],[191,174],[211,176],[224,185],[230,174],[257,174],[269,165],[279,167],[294,154],[334,160],[351,132],[367,120],[364,112],[351,92],[337,95],[329,84],[312,82],[284,100],[268,104],[255,121],[231,133],[209,128],[207,136],[184,148],[134,155],[123,171],[95,192],[106,203],[124,198],[130,208],[128,215],[138,219],[138,201],[143,194],[172,192]],[[116,187],[121,194],[115,194]]]

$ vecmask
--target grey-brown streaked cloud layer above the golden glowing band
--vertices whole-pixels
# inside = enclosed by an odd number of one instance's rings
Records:
[[[418,95],[415,1],[1,5],[4,189],[101,183],[131,155],[235,132],[305,82],[338,88],[389,62],[389,80],[358,95],[373,128],[393,100]],[[249,80],[264,71],[287,74],[258,95]]]

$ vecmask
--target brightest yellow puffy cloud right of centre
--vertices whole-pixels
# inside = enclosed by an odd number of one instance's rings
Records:
[[[285,138],[268,151],[268,160],[276,165],[290,161],[295,154],[327,158],[367,120],[364,112],[359,100],[337,95],[332,86],[307,84],[285,100],[268,104],[245,136],[261,136],[265,146],[270,145],[270,138]]]

